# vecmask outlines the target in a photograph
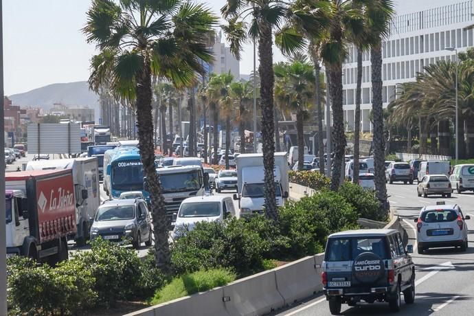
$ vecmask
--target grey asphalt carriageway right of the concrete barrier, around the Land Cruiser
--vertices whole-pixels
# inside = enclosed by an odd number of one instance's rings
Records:
[[[423,255],[412,254],[416,264],[415,304],[402,304],[399,315],[473,315],[474,307],[474,193],[453,194],[451,198],[440,196],[418,197],[416,184],[387,184],[390,205],[403,218],[409,234],[409,244],[416,245],[415,223],[421,207],[435,205],[436,201],[457,203],[464,215],[470,214],[469,249],[459,252],[452,248],[430,249]],[[387,303],[361,304],[349,307],[343,304],[342,315],[386,315],[392,313]],[[311,297],[306,302],[274,315],[331,315],[323,295]]]

